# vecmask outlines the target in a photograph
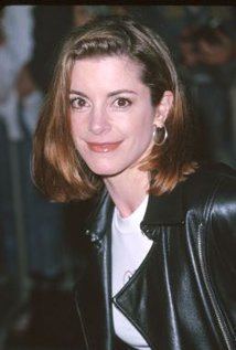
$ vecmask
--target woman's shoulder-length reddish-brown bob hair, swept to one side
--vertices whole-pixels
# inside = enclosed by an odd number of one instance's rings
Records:
[[[33,144],[32,172],[36,187],[58,202],[85,200],[98,193],[103,179],[93,173],[77,152],[69,121],[69,84],[74,63],[84,57],[125,55],[142,67],[152,104],[165,91],[174,96],[165,120],[169,137],[154,145],[140,169],[151,174],[150,192],[162,194],[193,172],[191,120],[170,53],[159,35],[127,17],[97,18],[76,28],[58,57]]]

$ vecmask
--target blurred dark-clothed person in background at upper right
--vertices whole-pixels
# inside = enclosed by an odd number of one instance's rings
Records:
[[[236,30],[236,23],[233,24]],[[236,166],[233,110],[236,84],[235,35],[208,20],[185,28],[180,38],[182,74],[202,123],[205,156]],[[234,32],[233,32],[234,33]]]

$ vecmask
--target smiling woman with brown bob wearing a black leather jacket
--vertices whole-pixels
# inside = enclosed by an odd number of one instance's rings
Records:
[[[56,201],[99,194],[76,286],[83,349],[235,349],[236,179],[201,167],[162,40],[129,18],[66,40],[35,132]]]

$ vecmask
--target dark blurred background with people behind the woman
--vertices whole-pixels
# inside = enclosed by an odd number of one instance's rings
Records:
[[[164,39],[199,120],[202,156],[236,167],[236,7],[0,7],[0,350],[83,350],[73,286],[93,201],[46,201],[30,159],[63,38],[115,13]]]

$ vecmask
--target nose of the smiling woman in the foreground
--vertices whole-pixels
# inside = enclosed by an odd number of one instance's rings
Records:
[[[90,112],[88,129],[95,135],[100,135],[110,130],[108,114],[105,108],[94,108]]]

